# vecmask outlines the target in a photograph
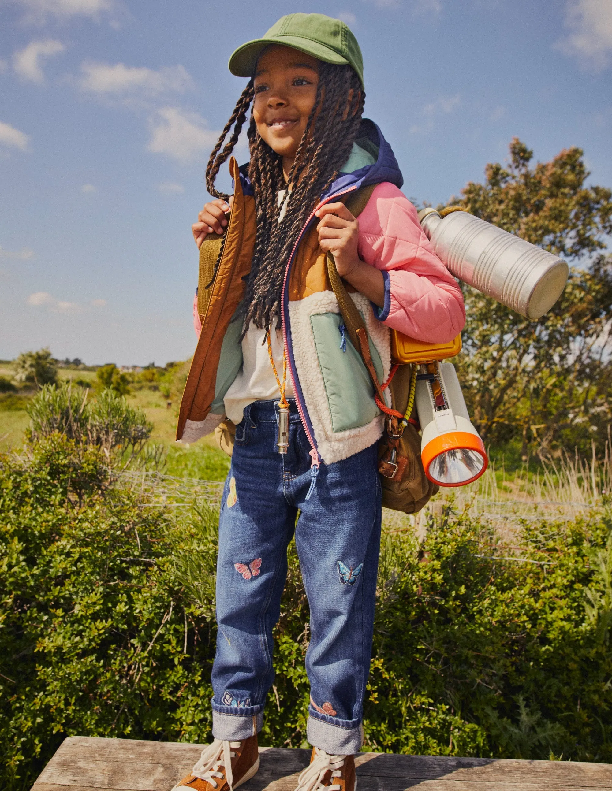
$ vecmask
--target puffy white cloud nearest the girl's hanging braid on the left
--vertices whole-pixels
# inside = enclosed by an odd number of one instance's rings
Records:
[[[158,110],[150,121],[150,129],[151,138],[146,146],[149,151],[184,162],[208,153],[219,138],[219,132],[207,129],[200,115],[174,107]]]

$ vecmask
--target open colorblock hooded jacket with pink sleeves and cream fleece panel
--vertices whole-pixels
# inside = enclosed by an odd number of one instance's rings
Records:
[[[466,320],[457,282],[433,252],[416,209],[400,191],[401,172],[389,143],[367,119],[357,145],[374,152],[372,164],[340,176],[306,221],[287,261],[281,320],[287,368],[313,464],[338,461],[367,448],[382,434],[382,414],[365,365],[348,340],[318,244],[314,212],[376,184],[359,215],[359,257],[382,271],[385,304],[351,294],[365,321],[380,381],[389,375],[390,328],[429,343],[446,342]],[[234,202],[211,297],[197,314],[200,338],[181,402],[177,439],[193,442],[225,418],[223,397],[242,365],[241,299],[255,242],[255,204],[246,176],[234,159]],[[350,291],[350,288],[348,289]]]

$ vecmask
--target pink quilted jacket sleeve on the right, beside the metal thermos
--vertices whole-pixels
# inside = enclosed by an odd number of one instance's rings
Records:
[[[435,255],[416,209],[389,182],[378,184],[359,214],[359,257],[385,274],[388,327],[427,343],[446,343],[466,323],[458,283]]]

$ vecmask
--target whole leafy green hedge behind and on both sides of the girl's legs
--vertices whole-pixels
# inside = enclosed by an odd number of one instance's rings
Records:
[[[95,445],[0,456],[0,785],[64,736],[207,741],[214,504],[158,505]],[[525,524],[525,562],[465,516],[382,543],[366,746],[612,761],[612,510]],[[262,744],[306,739],[306,596],[291,544]]]

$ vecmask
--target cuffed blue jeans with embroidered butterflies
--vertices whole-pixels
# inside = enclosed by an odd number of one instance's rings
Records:
[[[274,680],[272,630],[295,530],[310,604],[307,736],[315,747],[351,755],[363,744],[374,627],[381,531],[377,448],[321,463],[311,489],[310,446],[293,401],[287,454],[279,454],[276,439],[275,402],[245,407],[219,519],[212,731],[216,739],[241,740],[261,729]]]

